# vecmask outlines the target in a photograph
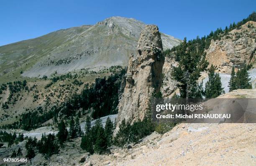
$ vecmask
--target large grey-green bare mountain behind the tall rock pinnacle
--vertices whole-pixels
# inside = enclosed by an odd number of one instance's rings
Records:
[[[132,18],[110,17],[95,25],[72,27],[5,45],[0,47],[0,74],[12,71],[42,77],[55,71],[127,65],[144,27],[143,22]],[[161,37],[164,49],[181,41],[163,33]]]

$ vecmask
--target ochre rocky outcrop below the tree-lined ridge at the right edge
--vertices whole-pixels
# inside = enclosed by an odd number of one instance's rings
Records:
[[[218,72],[231,73],[232,66],[238,68],[246,64],[255,64],[256,22],[249,21],[241,27],[232,30],[221,38],[211,41],[206,50],[206,60],[217,66]]]

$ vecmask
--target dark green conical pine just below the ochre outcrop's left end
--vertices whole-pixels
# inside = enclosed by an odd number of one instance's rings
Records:
[[[222,92],[220,75],[215,74],[215,67],[211,65],[208,73],[209,80],[205,83],[205,97],[208,99],[218,97]]]

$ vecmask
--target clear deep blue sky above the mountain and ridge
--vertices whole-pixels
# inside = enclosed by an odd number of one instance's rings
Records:
[[[0,46],[111,16],[133,17],[190,40],[255,10],[256,0],[1,0]]]

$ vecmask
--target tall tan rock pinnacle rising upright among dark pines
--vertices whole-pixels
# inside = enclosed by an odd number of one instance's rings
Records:
[[[164,65],[161,35],[156,25],[146,25],[138,41],[136,55],[131,54],[126,85],[118,105],[117,129],[125,119],[133,123],[143,119],[153,92],[159,92]]]

